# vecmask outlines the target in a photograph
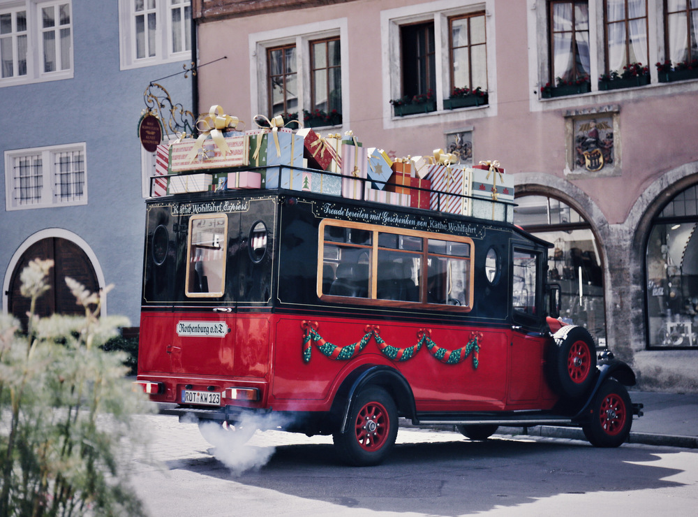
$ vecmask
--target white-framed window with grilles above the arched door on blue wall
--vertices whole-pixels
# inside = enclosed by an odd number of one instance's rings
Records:
[[[87,204],[85,144],[5,152],[7,210]]]

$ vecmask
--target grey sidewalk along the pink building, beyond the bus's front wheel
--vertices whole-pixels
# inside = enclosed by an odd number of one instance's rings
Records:
[[[698,449],[698,395],[630,391],[632,402],[644,405],[643,416],[632,420],[629,443]],[[541,425],[526,434],[586,440],[581,429]],[[521,434],[521,428],[500,428],[503,434]]]

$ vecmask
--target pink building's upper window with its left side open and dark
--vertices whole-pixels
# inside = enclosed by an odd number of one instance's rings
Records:
[[[389,100],[414,103],[416,96],[436,101],[440,110],[456,90],[493,87],[494,54],[487,52],[491,7],[488,0],[436,0],[382,11],[384,66],[393,71],[387,78]]]

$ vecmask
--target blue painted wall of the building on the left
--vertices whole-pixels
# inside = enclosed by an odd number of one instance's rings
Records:
[[[64,228],[87,242],[105,282],[114,284],[108,314],[128,316],[138,326],[145,205],[137,130],[143,93],[151,80],[182,71],[189,61],[120,71],[114,1],[73,0],[73,47],[73,79],[0,88],[0,152],[85,142],[88,204],[8,212],[0,161],[0,281],[12,274],[8,265],[22,242],[44,228]],[[175,103],[192,109],[191,74],[160,84]]]

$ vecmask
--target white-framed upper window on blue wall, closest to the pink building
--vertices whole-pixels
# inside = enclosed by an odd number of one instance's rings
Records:
[[[190,0],[119,0],[121,68],[191,58]]]

